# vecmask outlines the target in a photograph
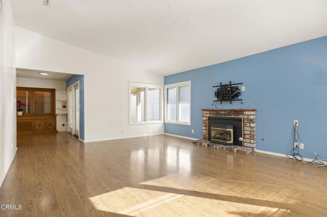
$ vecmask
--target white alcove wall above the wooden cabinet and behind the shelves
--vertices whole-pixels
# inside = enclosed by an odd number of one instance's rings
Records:
[[[19,70],[19,69],[17,69]],[[23,78],[17,77],[16,79],[17,87],[28,87],[28,88],[52,88],[56,89],[56,91],[66,90],[66,82],[60,80],[48,80],[48,79],[34,79],[34,78]],[[56,93],[57,97],[58,93]],[[56,103],[57,106],[61,106],[60,102]],[[62,126],[65,124],[65,126]],[[57,130],[67,131],[67,118],[66,115],[57,115]]]

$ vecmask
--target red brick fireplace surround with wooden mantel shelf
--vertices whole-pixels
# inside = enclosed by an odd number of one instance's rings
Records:
[[[255,148],[255,109],[201,109],[203,113],[203,139],[208,139],[208,116],[243,117],[243,145]]]

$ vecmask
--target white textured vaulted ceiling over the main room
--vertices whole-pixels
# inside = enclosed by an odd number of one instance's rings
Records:
[[[169,75],[327,36],[326,0],[11,0],[16,25]]]

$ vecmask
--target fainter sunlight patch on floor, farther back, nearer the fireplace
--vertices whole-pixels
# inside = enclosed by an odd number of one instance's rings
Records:
[[[158,179],[145,181],[141,184],[288,204],[299,202],[297,200],[297,198],[300,197],[299,191],[309,190],[273,184],[182,176],[180,174],[172,174]]]

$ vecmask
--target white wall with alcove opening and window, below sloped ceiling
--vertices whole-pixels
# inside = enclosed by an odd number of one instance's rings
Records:
[[[21,28],[16,28],[16,65],[84,74],[85,142],[164,133],[162,123],[128,124],[129,82],[163,85],[161,75]]]

